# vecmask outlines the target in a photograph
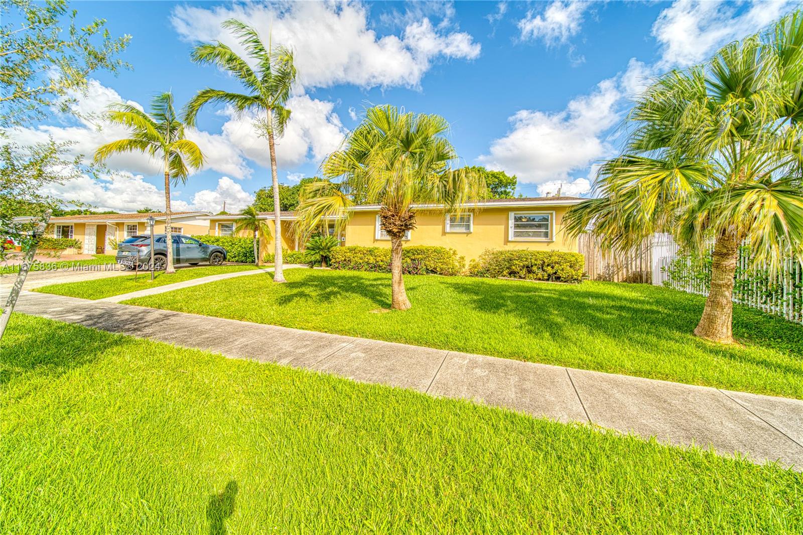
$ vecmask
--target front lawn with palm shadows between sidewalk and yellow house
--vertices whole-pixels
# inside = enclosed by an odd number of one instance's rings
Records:
[[[406,276],[413,308],[389,308],[390,276],[290,269],[127,303],[646,378],[803,398],[803,327],[736,307],[740,345],[692,331],[703,297],[646,284],[548,284]]]

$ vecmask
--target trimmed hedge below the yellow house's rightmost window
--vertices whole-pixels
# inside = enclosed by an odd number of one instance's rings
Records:
[[[479,259],[471,260],[468,272],[475,277],[580,282],[584,268],[585,260],[580,253],[487,249]]]

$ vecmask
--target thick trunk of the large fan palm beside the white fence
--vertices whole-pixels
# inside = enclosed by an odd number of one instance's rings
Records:
[[[708,340],[733,342],[733,276],[739,259],[739,240],[730,232],[719,235],[711,262],[711,289],[695,334]]]

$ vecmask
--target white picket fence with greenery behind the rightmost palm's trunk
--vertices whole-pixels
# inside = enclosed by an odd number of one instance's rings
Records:
[[[680,247],[671,235],[653,236],[652,284],[706,296],[711,279],[710,270],[692,265],[690,259],[683,258],[679,253]],[[673,263],[675,272],[680,271],[685,263],[684,276],[670,276],[667,268]],[[785,317],[789,321],[803,323],[803,263],[792,258],[784,259],[781,269],[770,276],[765,266],[751,268],[748,256],[740,255],[736,266],[733,301]]]

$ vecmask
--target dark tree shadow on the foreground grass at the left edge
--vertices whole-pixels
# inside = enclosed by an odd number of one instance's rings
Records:
[[[123,343],[106,333],[90,336],[79,325],[16,313],[0,348],[0,384],[32,372],[58,378]]]

